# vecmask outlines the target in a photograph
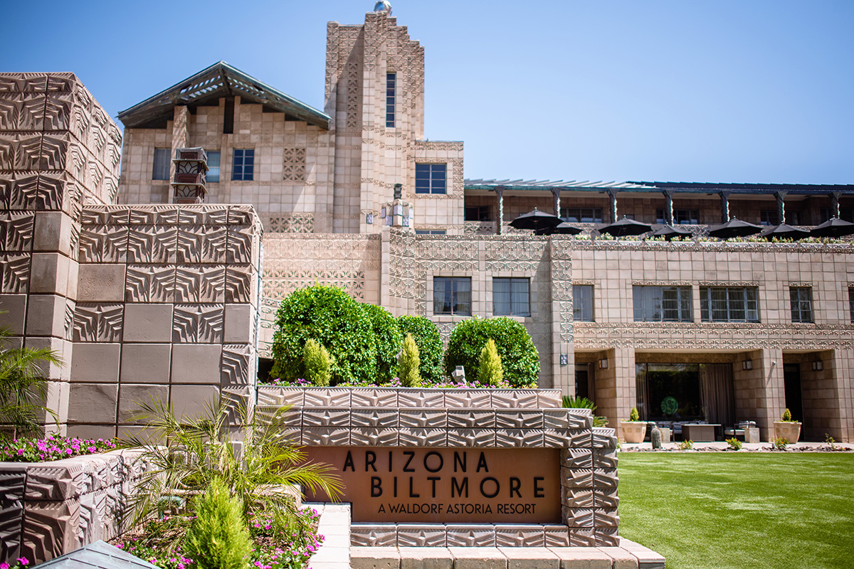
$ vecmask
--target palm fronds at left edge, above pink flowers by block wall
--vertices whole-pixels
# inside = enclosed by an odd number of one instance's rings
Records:
[[[41,403],[48,394],[47,367],[62,365],[62,360],[50,348],[14,347],[14,337],[8,326],[0,326],[0,425],[16,438],[38,433],[43,415],[57,420]],[[9,433],[0,431],[0,440],[5,438]]]

